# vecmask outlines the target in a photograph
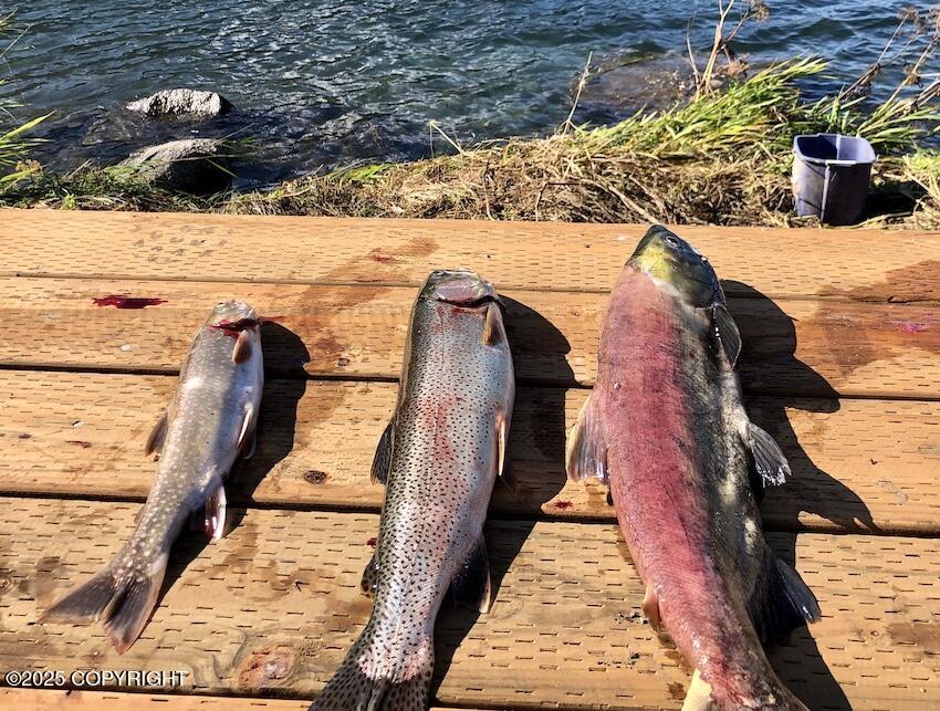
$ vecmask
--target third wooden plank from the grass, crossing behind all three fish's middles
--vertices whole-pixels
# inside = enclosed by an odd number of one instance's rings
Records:
[[[0,373],[0,492],[143,500],[154,471],[144,441],[175,386],[164,376]],[[233,474],[230,495],[377,509],[383,489],[368,471],[396,391],[388,383],[269,381],[258,452]],[[519,389],[516,492],[498,484],[493,512],[613,520],[599,485],[570,483],[563,471],[564,438],[586,395]],[[764,501],[769,527],[940,530],[940,402],[761,397],[748,406],[793,466],[791,481]]]

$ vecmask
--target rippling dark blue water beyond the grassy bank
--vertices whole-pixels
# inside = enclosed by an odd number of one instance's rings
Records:
[[[770,0],[737,48],[756,61],[818,53],[834,82],[869,64],[906,2]],[[696,7],[706,46],[713,3],[662,0],[61,0],[13,2],[29,25],[7,56],[2,94],[21,117],[54,109],[40,156],[70,167],[181,135],[254,138],[258,184],[357,159],[427,155],[428,123],[461,142],[552,130],[588,53],[656,55],[685,46]],[[160,88],[212,88],[237,112],[216,123],[154,124],[118,111]],[[597,116],[613,118],[616,111]],[[591,115],[586,107],[585,117]],[[440,143],[438,137],[437,144]]]

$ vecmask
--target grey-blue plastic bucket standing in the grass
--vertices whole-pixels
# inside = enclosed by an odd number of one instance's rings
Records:
[[[825,224],[856,224],[865,200],[875,149],[865,138],[807,134],[793,139],[793,197],[796,215],[816,215]]]

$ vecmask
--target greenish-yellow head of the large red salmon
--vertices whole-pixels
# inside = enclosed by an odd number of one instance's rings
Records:
[[[647,230],[627,260],[658,285],[668,285],[692,306],[709,306],[724,301],[721,284],[708,259],[686,240],[660,224]]]

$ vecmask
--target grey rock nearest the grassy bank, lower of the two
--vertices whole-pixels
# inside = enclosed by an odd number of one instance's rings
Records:
[[[222,142],[187,138],[136,150],[121,161],[137,178],[184,192],[207,194],[224,190],[231,182],[231,168],[222,153]]]

